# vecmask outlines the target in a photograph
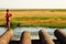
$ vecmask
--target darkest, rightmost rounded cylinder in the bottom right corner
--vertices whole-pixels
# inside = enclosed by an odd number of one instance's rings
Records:
[[[63,33],[61,30],[55,30],[54,35],[62,44],[66,44],[66,33]]]

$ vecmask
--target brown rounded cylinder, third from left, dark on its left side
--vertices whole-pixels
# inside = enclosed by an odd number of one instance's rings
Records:
[[[40,40],[42,41],[42,44],[55,44],[46,31],[41,30],[38,32],[38,35]]]

